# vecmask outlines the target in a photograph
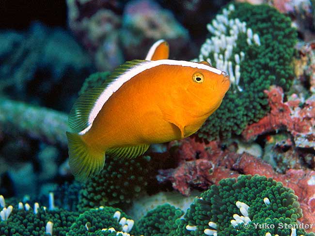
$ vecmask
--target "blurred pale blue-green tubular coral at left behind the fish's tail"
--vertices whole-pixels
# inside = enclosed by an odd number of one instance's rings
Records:
[[[0,110],[2,130],[16,130],[50,144],[67,144],[65,131],[68,129],[68,122],[65,113],[4,97],[0,97]]]

